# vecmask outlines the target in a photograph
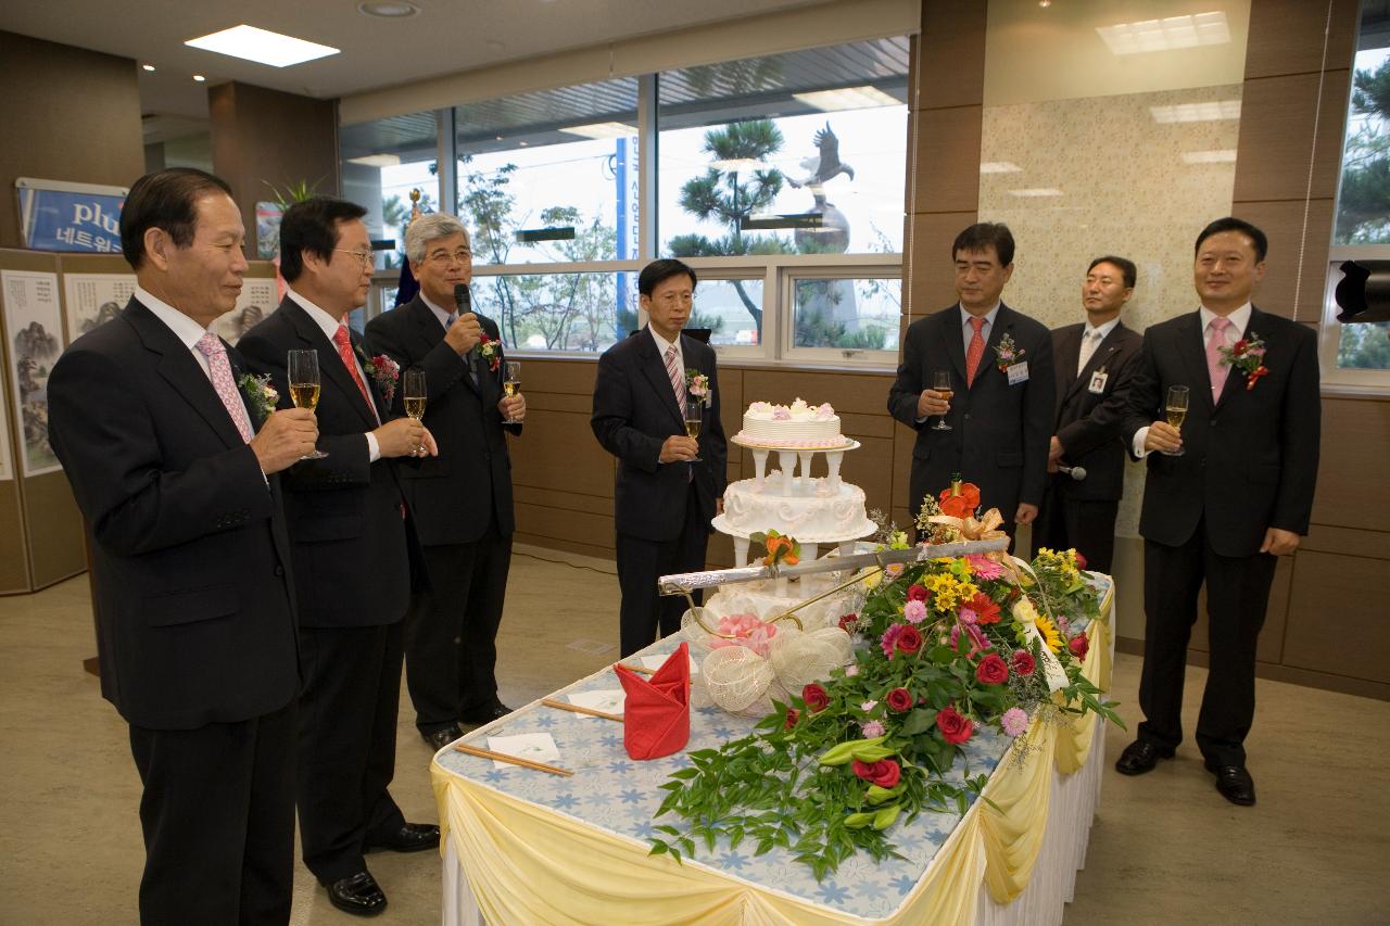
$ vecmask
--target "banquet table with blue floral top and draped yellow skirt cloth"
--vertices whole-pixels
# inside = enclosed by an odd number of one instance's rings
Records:
[[[1108,690],[1113,583],[1097,574],[1093,581],[1101,588],[1101,619],[1086,628],[1083,670]],[[666,655],[678,644],[677,634],[639,655]],[[617,687],[605,669],[550,698]],[[488,737],[545,733],[559,748],[549,763],[573,777],[441,749],[431,780],[443,831],[443,923],[1062,922],[1099,802],[1105,724],[1094,715],[1034,716],[1026,749],[977,727],[952,774],[959,781],[988,772],[988,799],[963,815],[924,812],[894,826],[888,836],[902,859],[874,862],[860,852],[816,882],[781,848],[755,855],[748,844],[721,841],[680,862],[649,855],[653,827],[680,822],[653,819],[666,794],[659,786],[689,766],[688,752],[717,748],[753,724],[714,706],[692,708],[687,748],[638,762],[623,748],[621,724],[537,701],[461,742],[486,748]]]

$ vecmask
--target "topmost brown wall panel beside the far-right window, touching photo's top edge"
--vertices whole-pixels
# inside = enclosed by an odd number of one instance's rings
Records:
[[[1357,39],[1358,0],[1251,0],[1250,33],[1245,39],[1245,79],[1304,74],[1322,68],[1323,29],[1327,36],[1327,64],[1346,65]]]

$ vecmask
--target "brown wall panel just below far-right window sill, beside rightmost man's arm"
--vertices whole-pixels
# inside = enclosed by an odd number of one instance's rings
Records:
[[[1316,524],[1380,531],[1390,512],[1390,482],[1375,478],[1390,446],[1390,402],[1322,400],[1322,455],[1312,520]],[[1386,624],[1390,628],[1390,623]]]

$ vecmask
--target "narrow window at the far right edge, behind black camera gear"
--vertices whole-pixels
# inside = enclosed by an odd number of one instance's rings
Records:
[[[1362,4],[1347,108],[1336,225],[1322,325],[1323,381],[1390,387],[1390,324],[1337,321],[1333,298],[1346,260],[1390,260],[1390,17]]]

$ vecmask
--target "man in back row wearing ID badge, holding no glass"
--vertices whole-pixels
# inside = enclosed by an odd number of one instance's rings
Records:
[[[1074,546],[1090,569],[1101,573],[1111,571],[1115,553],[1115,516],[1125,492],[1120,430],[1143,341],[1120,321],[1120,309],[1134,295],[1136,275],[1131,260],[1097,257],[1081,284],[1086,321],[1052,331],[1056,362],[1056,417],[1048,450],[1052,476],[1033,527],[1033,546]],[[1073,474],[1080,473],[1084,478],[1076,480]]]

